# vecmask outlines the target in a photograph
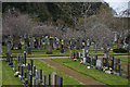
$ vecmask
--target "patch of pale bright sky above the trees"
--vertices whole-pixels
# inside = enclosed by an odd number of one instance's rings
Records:
[[[113,8],[119,15],[119,13],[121,11],[125,11],[128,9],[128,2],[130,0],[104,0],[104,1],[107,2],[109,4],[109,7]],[[130,9],[130,7],[129,7],[129,9]]]

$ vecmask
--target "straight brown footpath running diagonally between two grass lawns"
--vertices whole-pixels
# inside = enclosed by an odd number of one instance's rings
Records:
[[[103,87],[104,86],[108,87],[108,86],[106,86],[106,85],[104,85],[104,84],[102,84],[102,83],[100,83],[100,82],[98,82],[98,80],[95,80],[93,78],[90,78],[90,77],[88,77],[88,76],[86,76],[83,74],[75,72],[74,70],[70,70],[70,69],[68,69],[66,66],[63,66],[63,65],[61,65],[61,64],[58,64],[58,63],[56,63],[56,62],[54,62],[52,60],[49,60],[49,59],[48,60],[43,60],[42,59],[42,61],[48,63],[49,65],[55,67],[56,70],[58,70],[58,71],[61,71],[61,72],[63,72],[63,73],[65,73],[65,74],[67,74],[69,76],[78,79],[79,82],[81,82],[84,85],[89,85],[89,86],[99,85],[99,86],[103,86]]]

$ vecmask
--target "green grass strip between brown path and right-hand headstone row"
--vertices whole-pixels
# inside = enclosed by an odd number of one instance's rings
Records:
[[[87,65],[80,64],[79,62],[73,61],[73,59],[52,59],[53,61],[65,65],[72,70],[75,70],[81,74],[90,76],[106,85],[128,85],[128,79],[121,76],[106,74],[100,70],[87,69]]]

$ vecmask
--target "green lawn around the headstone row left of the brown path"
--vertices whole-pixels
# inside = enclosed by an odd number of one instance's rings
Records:
[[[27,60],[27,62],[30,62],[30,60]],[[55,70],[54,67],[48,65],[41,60],[34,60],[34,65],[36,65],[36,69],[39,72],[39,69],[42,69],[42,73],[47,75],[47,73],[50,73],[52,75],[52,72],[56,72],[57,75],[63,76],[63,85],[82,85],[77,79]],[[8,65],[6,62],[3,61],[2,63],[2,85],[22,85],[23,83],[20,80],[18,77],[14,77],[14,71],[12,67]],[[39,74],[39,73],[38,73]],[[29,74],[27,73],[27,79],[29,79]],[[52,76],[51,76],[52,82]],[[29,83],[29,82],[28,82]]]

